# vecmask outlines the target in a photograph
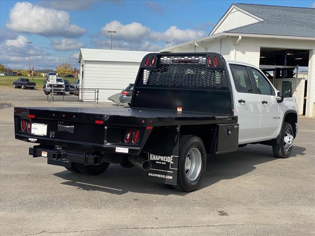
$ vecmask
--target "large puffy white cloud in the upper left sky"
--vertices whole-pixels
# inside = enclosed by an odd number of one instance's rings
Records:
[[[78,37],[86,29],[70,22],[66,11],[33,5],[30,2],[17,2],[10,10],[9,22],[5,27],[16,32],[35,33],[46,37]]]

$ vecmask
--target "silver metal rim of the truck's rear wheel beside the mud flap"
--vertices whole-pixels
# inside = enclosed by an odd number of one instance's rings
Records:
[[[185,173],[186,177],[193,181],[195,180],[201,171],[202,159],[201,153],[198,148],[191,148],[186,156],[185,161]]]

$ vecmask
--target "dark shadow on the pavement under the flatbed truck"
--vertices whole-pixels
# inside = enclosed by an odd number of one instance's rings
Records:
[[[305,148],[294,146],[290,158],[305,155],[305,150]],[[247,147],[239,148],[236,152],[209,156],[205,177],[196,191],[207,188],[221,180],[233,179],[248,174],[256,169],[255,166],[276,160],[285,161],[275,158],[272,148],[263,145],[248,145]],[[188,194],[172,188],[163,188],[157,183],[145,181],[145,178],[139,173],[140,170],[136,167],[125,169],[120,165],[111,164],[106,172],[100,176],[85,176],[69,171],[62,171],[54,175],[66,180],[61,182],[62,184],[84,191],[101,191],[116,195],[122,195],[127,192],[164,196],[185,196]]]

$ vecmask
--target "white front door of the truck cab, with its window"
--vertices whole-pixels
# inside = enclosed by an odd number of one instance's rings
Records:
[[[260,137],[277,136],[281,127],[281,109],[276,100],[276,92],[270,81],[257,69],[249,68],[254,91],[260,94],[261,119],[259,127]]]

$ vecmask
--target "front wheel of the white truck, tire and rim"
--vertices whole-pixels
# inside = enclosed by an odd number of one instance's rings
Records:
[[[279,144],[272,146],[275,157],[287,158],[289,157],[293,148],[293,129],[291,124],[284,122],[284,127],[282,129],[282,134]]]

